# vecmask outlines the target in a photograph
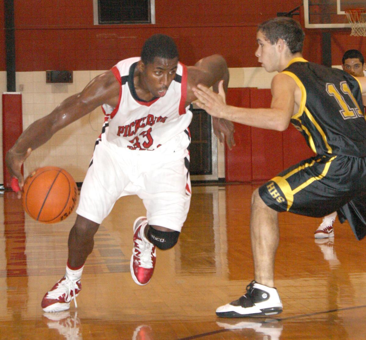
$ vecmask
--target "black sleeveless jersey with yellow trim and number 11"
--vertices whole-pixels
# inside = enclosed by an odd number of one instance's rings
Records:
[[[294,124],[318,155],[366,156],[366,121],[359,81],[339,69],[291,60],[283,71],[300,87]]]

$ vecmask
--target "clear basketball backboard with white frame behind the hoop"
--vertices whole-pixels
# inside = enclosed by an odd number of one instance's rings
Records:
[[[362,7],[366,7],[366,0],[304,0],[305,27],[351,27],[344,11]]]

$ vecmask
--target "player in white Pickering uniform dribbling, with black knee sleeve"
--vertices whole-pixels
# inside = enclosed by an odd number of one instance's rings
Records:
[[[98,106],[105,114],[68,239],[66,274],[45,294],[45,312],[67,310],[73,299],[76,307],[94,234],[122,196],[136,194],[146,207],[146,217],[134,223],[130,267],[137,284],[150,281],[155,248],[165,250],[176,244],[190,204],[188,125],[192,113],[188,107],[196,99],[192,88],[203,83],[217,91],[220,80],[227,89],[229,73],[221,56],[212,55],[186,67],[178,61],[172,38],[156,34],[146,40],[141,58],[117,63],[18,138],[6,163],[22,188],[20,167],[32,150]],[[223,133],[231,148],[233,124],[214,119],[213,125],[219,140],[223,141]]]

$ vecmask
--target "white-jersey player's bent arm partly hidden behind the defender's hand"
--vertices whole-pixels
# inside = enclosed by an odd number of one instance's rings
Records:
[[[197,84],[205,84],[207,87],[212,86],[217,93],[219,89],[219,82],[223,81],[225,92],[229,84],[229,70],[225,59],[218,54],[208,56],[199,60],[194,66],[188,67],[187,80],[187,102],[186,106],[197,99],[193,88]],[[213,131],[221,143],[226,143],[231,149],[235,145],[234,141],[234,124],[225,119],[213,117],[212,119]]]

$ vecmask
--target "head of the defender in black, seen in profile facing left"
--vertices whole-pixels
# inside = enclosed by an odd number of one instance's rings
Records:
[[[279,16],[261,23],[257,29],[258,49],[255,55],[266,71],[279,71],[283,56],[301,53],[305,33],[292,18]]]

